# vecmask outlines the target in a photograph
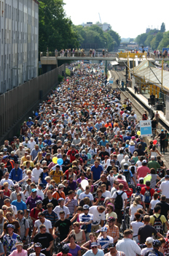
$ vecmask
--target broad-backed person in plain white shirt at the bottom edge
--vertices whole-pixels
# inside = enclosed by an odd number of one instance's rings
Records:
[[[125,230],[124,238],[117,242],[117,251],[125,252],[126,256],[135,256],[136,254],[141,255],[141,248],[132,240],[132,238],[133,230]]]

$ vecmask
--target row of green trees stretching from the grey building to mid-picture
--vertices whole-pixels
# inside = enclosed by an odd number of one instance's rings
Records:
[[[98,48],[109,51],[120,44],[117,32],[103,31],[96,25],[74,26],[64,12],[63,0],[39,1],[39,51],[56,48],[79,48],[82,43],[97,43]]]

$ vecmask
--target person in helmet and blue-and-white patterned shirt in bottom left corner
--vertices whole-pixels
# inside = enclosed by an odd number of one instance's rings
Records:
[[[4,255],[9,256],[11,252],[13,252],[16,247],[16,243],[22,243],[21,238],[19,235],[14,233],[14,225],[8,224],[7,225],[7,234],[4,235],[3,238],[3,245],[4,245]]]

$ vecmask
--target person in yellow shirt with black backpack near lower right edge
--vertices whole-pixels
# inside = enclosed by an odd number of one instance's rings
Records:
[[[150,225],[152,225],[162,236],[164,234],[164,225],[169,230],[169,223],[164,215],[160,214],[161,206],[154,206],[154,214],[150,217]]]

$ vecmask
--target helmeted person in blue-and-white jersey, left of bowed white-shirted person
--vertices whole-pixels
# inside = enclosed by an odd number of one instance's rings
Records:
[[[84,214],[79,214],[79,223],[80,225],[82,225],[81,229],[87,230],[87,233],[86,233],[87,241],[90,240],[89,234],[92,228],[91,223],[93,222],[93,214],[89,214],[89,208],[90,206],[84,205],[83,206]]]

